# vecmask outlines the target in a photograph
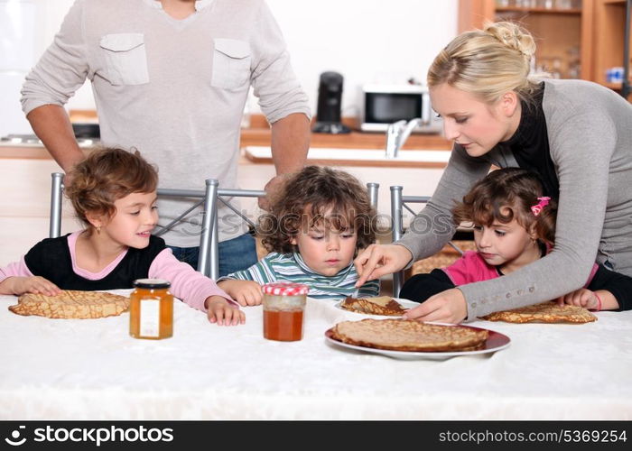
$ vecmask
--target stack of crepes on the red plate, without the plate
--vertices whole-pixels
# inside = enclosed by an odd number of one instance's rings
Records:
[[[331,332],[333,339],[349,345],[392,351],[473,351],[483,348],[488,339],[487,330],[404,319],[342,321]]]

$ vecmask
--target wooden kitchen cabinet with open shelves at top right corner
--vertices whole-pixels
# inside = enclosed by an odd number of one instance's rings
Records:
[[[606,70],[623,64],[625,0],[460,0],[459,6],[460,32],[486,21],[519,22],[534,34],[537,66],[620,89],[607,82]]]

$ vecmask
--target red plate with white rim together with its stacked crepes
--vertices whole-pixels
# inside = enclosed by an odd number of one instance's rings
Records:
[[[333,345],[402,360],[443,360],[505,349],[508,336],[481,327],[406,319],[341,321],[325,332]]]

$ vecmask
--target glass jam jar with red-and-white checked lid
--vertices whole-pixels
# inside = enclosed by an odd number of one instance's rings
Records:
[[[301,340],[309,287],[302,283],[273,282],[261,290],[264,292],[264,337],[277,341]]]

